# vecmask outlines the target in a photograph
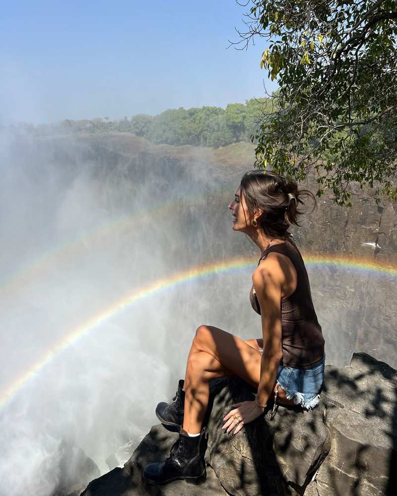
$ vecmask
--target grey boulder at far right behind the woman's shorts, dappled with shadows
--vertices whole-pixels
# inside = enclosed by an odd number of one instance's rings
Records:
[[[330,453],[314,484],[323,495],[397,494],[397,375],[363,353],[328,366],[323,401]]]

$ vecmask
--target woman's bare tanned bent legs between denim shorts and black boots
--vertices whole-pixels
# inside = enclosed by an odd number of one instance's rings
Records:
[[[188,356],[185,375],[185,413],[183,429],[198,434],[208,406],[209,380],[215,377],[238,375],[258,387],[261,372],[259,349],[262,340],[244,340],[218,327],[200,325]],[[278,392],[280,402],[287,400],[285,392]]]

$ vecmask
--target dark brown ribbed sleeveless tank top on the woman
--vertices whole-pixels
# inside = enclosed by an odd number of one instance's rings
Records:
[[[296,290],[288,298],[281,299],[283,365],[294,369],[310,369],[324,355],[324,337],[314,310],[305,263],[298,249],[286,241],[267,247],[258,265],[271,251],[286,255],[298,276]],[[252,308],[261,314],[254,286],[250,291],[250,301]]]

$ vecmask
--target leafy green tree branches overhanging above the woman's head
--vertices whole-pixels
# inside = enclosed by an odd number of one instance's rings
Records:
[[[349,205],[352,183],[397,198],[397,1],[249,0],[244,48],[266,40],[261,67],[276,79],[263,116],[257,167],[332,189]]]

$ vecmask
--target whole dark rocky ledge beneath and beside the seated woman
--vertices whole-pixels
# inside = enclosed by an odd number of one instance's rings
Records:
[[[165,459],[177,434],[154,426],[124,468],[91,482],[82,496],[397,494],[397,373],[369,355],[353,355],[350,367],[326,366],[320,405],[311,412],[279,407],[240,434],[221,430],[230,406],[252,399],[239,378],[211,383],[208,478],[151,486],[141,477],[146,463]]]

